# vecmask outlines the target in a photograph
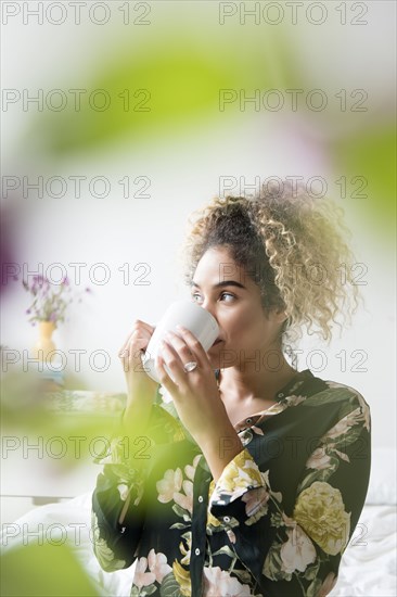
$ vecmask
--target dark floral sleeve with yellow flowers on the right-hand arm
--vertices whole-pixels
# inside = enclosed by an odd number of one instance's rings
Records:
[[[307,458],[293,511],[247,448],[213,485],[209,513],[232,532],[232,548],[264,595],[322,597],[335,586],[367,495],[371,452],[362,396],[340,403],[337,412]]]

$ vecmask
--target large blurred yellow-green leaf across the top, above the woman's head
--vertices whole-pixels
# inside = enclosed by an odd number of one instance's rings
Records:
[[[190,27],[192,24],[190,23]],[[240,28],[227,39],[216,28],[196,36],[189,26],[170,25],[158,35],[148,35],[141,47],[126,48],[115,42],[106,63],[87,80],[80,110],[71,96],[62,112],[46,110],[33,122],[28,139],[40,137],[50,154],[63,155],[127,138],[131,147],[142,139],[172,136],[179,131],[210,127],[229,113],[219,111],[220,89],[271,89],[294,86],[293,60],[286,38],[267,30],[253,39],[251,28]],[[260,48],[260,50],[259,50]],[[266,50],[269,50],[267,52]],[[104,104],[99,111],[90,106]],[[128,91],[126,91],[128,90]],[[239,112],[236,103],[232,117]]]

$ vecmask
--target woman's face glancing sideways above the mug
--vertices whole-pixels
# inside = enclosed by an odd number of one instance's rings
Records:
[[[221,341],[207,351],[212,366],[227,368],[248,360],[257,363],[255,370],[259,370],[264,353],[278,347],[274,341],[285,314],[264,313],[259,287],[236,265],[226,246],[204,253],[193,276],[191,294],[219,326]]]

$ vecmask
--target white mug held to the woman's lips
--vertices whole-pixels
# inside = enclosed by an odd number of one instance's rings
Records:
[[[171,303],[158,321],[146,351],[141,357],[145,372],[158,383],[159,379],[155,368],[155,358],[159,350],[159,343],[168,331],[180,334],[176,329],[178,325],[190,330],[203,345],[204,351],[208,351],[212,347],[219,333],[219,327],[215,317],[196,303],[187,298]],[[175,381],[168,367],[165,365],[164,368],[172,381]]]

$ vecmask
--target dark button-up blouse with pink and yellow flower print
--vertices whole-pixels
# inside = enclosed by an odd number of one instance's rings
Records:
[[[138,437],[132,455],[128,439],[114,433],[98,459],[92,530],[103,570],[137,560],[131,596],[326,595],[368,490],[364,398],[299,372],[277,404],[234,425],[242,450],[214,483],[162,391],[151,416],[154,440]],[[219,449],[228,449],[221,439]],[[146,460],[138,468],[139,457]]]

